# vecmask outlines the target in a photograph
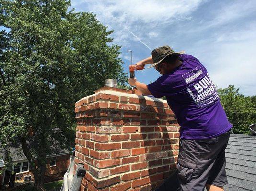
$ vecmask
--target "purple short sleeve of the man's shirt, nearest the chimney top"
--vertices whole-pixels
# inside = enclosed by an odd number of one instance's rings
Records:
[[[161,98],[168,94],[167,92],[167,84],[166,84],[167,76],[162,75],[160,76],[155,82],[148,84],[148,89],[151,94],[156,98]]]

